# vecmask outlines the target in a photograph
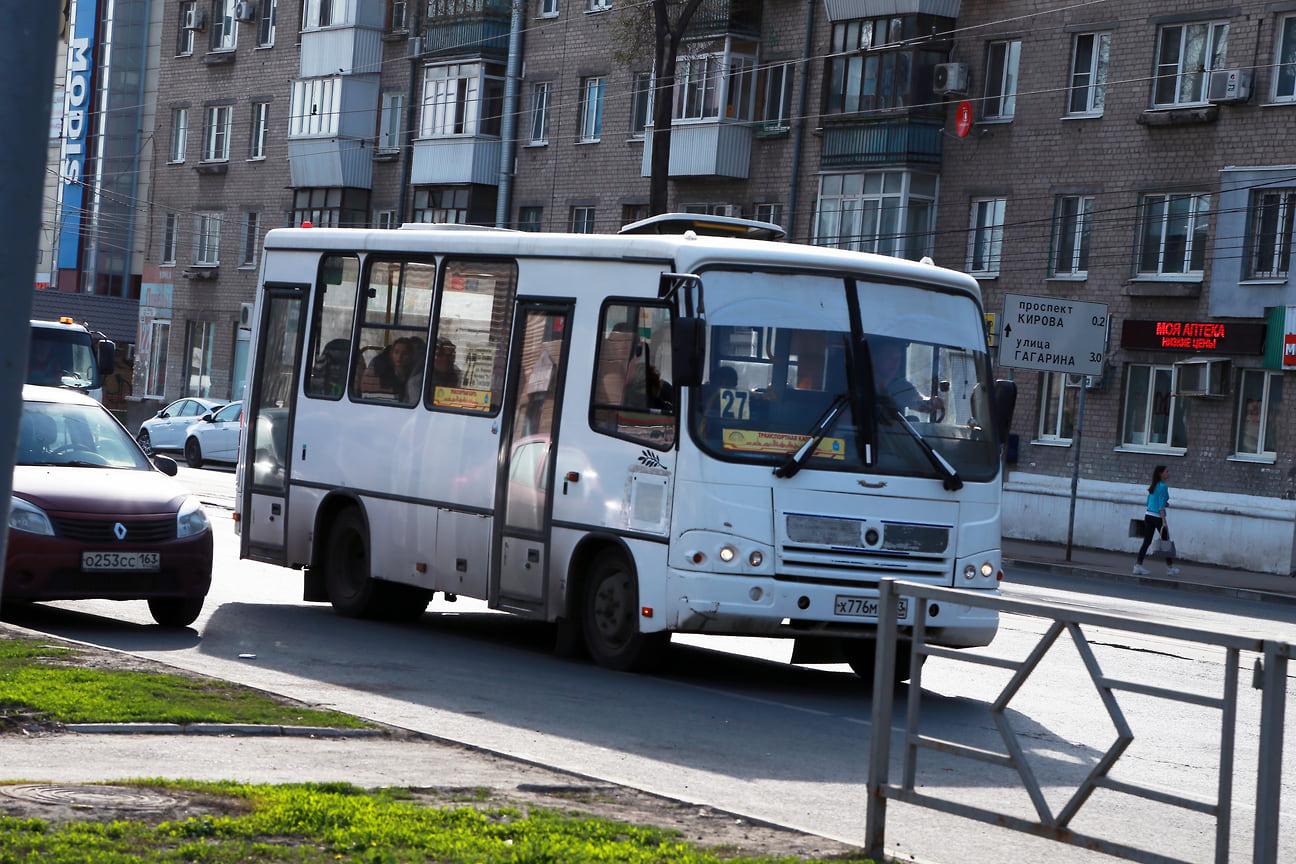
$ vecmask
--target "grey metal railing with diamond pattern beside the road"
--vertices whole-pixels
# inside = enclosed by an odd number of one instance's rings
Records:
[[[1232,776],[1234,776],[1234,741],[1238,725],[1238,666],[1242,652],[1256,652],[1262,655],[1256,663],[1255,687],[1261,690],[1260,714],[1260,758],[1257,764],[1257,790],[1256,790],[1256,823],[1255,823],[1255,848],[1253,864],[1277,864],[1278,861],[1278,828],[1279,828],[1279,802],[1282,797],[1282,746],[1283,746],[1283,714],[1287,698],[1287,661],[1291,658],[1292,646],[1288,642],[1262,640],[1247,636],[1234,636],[1229,633],[1216,633],[1190,627],[1178,627],[1151,620],[1124,618],[1100,613],[1086,613],[1078,610],[1059,609],[1043,604],[1007,600],[1004,597],[985,596],[978,597],[976,592],[953,591],[950,588],[933,588],[916,583],[896,582],[885,579],[879,585],[879,622],[877,622],[877,665],[874,684],[874,714],[872,714],[872,745],[868,760],[868,812],[866,823],[864,854],[875,860],[884,860],[886,836],[886,802],[899,801],[920,807],[938,810],[946,813],[975,819],[977,821],[994,825],[1003,825],[1019,832],[1045,837],[1054,841],[1083,846],[1108,855],[1126,858],[1153,864],[1188,864],[1182,859],[1170,858],[1152,850],[1137,848],[1115,839],[1080,834],[1070,829],[1072,820],[1098,789],[1112,790],[1139,798],[1144,798],[1161,804],[1179,807],[1183,810],[1207,813],[1214,817],[1214,861],[1227,864],[1229,836],[1232,813]],[[914,610],[914,632],[910,650],[912,652],[907,716],[905,727],[905,756],[903,779],[901,784],[892,784],[890,771],[890,737],[892,737],[892,711],[893,711],[893,681],[896,666],[896,648],[898,641],[898,600],[901,596],[911,597],[918,602],[910,602]],[[1039,637],[1039,641],[1020,661],[985,654],[975,654],[964,650],[953,650],[928,645],[927,633],[927,606],[929,601],[949,602],[981,609],[995,609],[1002,613],[1028,615],[1033,618],[1048,619],[1052,623]],[[1082,626],[1102,627],[1147,636],[1182,640],[1208,646],[1225,649],[1226,663],[1223,674],[1223,687],[1220,696],[1204,696],[1178,690],[1168,687],[1155,687],[1135,681],[1126,681],[1103,674],[1093,646],[1082,630]],[[1026,679],[1030,677],[1048,649],[1063,633],[1069,633],[1076,649],[1083,661],[1103,707],[1111,716],[1116,727],[1116,741],[1093,766],[1087,776],[1080,782],[1069,801],[1054,813],[1045,799],[1041,784],[1025,759],[1017,733],[1012,729],[1006,718],[1006,709],[1012,697],[1021,689]],[[1004,753],[995,753],[981,747],[972,747],[954,741],[934,738],[919,733],[919,712],[921,709],[921,659],[924,657],[941,657],[946,659],[993,666],[1011,670],[1012,677],[1003,690],[989,705],[989,711],[994,724],[1003,738]],[[1220,776],[1217,780],[1214,801],[1199,801],[1169,793],[1161,789],[1152,789],[1137,784],[1121,781],[1111,776],[1113,766],[1134,741],[1134,733],[1125,719],[1117,699],[1117,693],[1135,693],[1144,697],[1169,699],[1187,705],[1196,705],[1218,710],[1221,714],[1220,738]],[[960,758],[1001,766],[1016,771],[1021,779],[1021,785],[1030,798],[1037,819],[1024,819],[1017,815],[997,812],[985,807],[977,807],[963,802],[938,798],[927,791],[915,789],[918,769],[918,755],[924,750],[934,750]],[[1265,754],[1269,754],[1266,758]]]

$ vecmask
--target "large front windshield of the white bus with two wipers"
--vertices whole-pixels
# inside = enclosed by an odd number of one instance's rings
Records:
[[[962,479],[995,477],[985,337],[971,299],[783,273],[712,272],[704,282],[708,370],[689,412],[704,449],[779,466],[820,437],[800,460],[807,470],[940,478],[945,460]],[[863,334],[854,347],[851,289]]]

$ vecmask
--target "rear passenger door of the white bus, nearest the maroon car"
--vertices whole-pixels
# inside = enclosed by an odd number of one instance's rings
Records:
[[[244,402],[241,556],[285,563],[293,408],[310,285],[264,286],[250,392]]]

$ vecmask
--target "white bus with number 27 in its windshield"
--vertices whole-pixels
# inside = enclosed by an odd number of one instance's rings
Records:
[[[879,579],[998,588],[1015,390],[971,277],[775,232],[271,231],[241,554],[343,615],[481,598],[610,668],[731,633],[871,676]]]

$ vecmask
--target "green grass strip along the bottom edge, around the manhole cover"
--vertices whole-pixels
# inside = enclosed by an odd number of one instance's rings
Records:
[[[67,823],[0,816],[0,864],[285,861],[323,864],[807,864],[706,850],[678,832],[512,807],[428,807],[403,790],[141,781],[231,802],[231,815],[179,821]],[[833,859],[866,861],[867,859]]]

